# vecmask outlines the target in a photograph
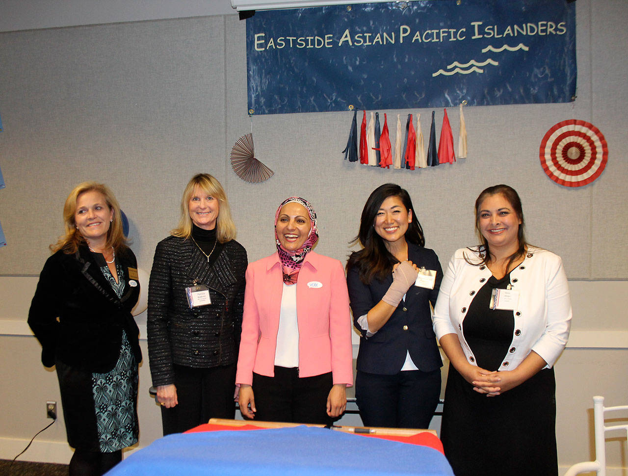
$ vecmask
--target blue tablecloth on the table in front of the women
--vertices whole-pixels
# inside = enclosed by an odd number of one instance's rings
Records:
[[[165,436],[125,458],[107,476],[453,476],[426,446],[296,426]]]

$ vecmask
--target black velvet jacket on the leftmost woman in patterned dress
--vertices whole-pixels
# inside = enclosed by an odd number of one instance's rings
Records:
[[[100,262],[99,262],[100,261]],[[75,254],[57,251],[46,260],[28,311],[28,325],[41,343],[46,367],[58,359],[89,372],[114,368],[122,345],[122,330],[131,343],[136,362],[142,360],[139,330],[131,310],[138,302],[139,282],[129,284],[129,268],[138,263],[131,249],[116,253],[124,271],[124,295],[118,298],[100,271],[101,254],[81,246]]]

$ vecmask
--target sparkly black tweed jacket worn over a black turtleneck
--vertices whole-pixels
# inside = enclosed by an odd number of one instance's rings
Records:
[[[246,250],[226,242],[213,263],[190,239],[169,236],[155,249],[148,286],[148,360],[153,385],[174,383],[173,364],[208,368],[237,360]],[[209,288],[212,303],[190,309],[185,288]]]

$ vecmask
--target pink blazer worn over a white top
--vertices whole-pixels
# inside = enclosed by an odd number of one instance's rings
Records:
[[[252,384],[253,372],[274,376],[274,357],[283,293],[279,254],[246,270],[242,338],[236,382]],[[296,283],[299,376],[332,372],[334,384],[353,384],[349,294],[342,264],[310,251]]]

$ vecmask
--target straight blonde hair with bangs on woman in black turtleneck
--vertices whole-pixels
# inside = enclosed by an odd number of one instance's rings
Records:
[[[203,192],[216,198],[219,202],[218,219],[216,220],[216,239],[225,243],[236,239],[236,225],[231,218],[231,210],[227,201],[227,194],[220,182],[208,173],[197,173],[193,176],[181,198],[181,219],[177,227],[170,232],[173,236],[188,239],[192,235],[192,218],[190,217],[190,198],[194,193],[194,187],[200,187]]]

